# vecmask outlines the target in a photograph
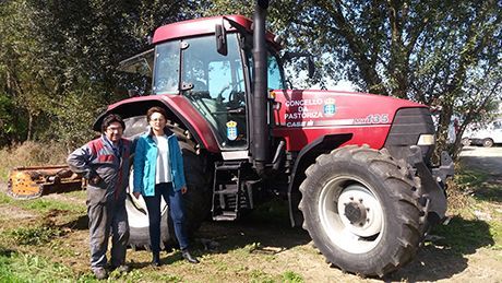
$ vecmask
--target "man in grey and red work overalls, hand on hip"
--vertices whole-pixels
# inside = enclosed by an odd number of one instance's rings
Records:
[[[110,232],[110,266],[121,272],[129,271],[125,266],[129,240],[125,187],[129,184],[129,156],[132,149],[131,142],[122,139],[124,128],[120,116],[110,114],[103,120],[101,137],[68,156],[70,168],[87,179],[91,269],[99,280],[108,278],[106,252]]]

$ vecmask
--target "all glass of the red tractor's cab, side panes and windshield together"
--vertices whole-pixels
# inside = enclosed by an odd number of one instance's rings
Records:
[[[238,36],[227,34],[226,56],[217,52],[214,35],[167,42],[155,49],[154,94],[181,93],[210,122],[222,150],[231,151],[248,149],[246,94],[253,70],[252,55],[241,54]],[[270,54],[268,89],[283,87],[280,64]]]

